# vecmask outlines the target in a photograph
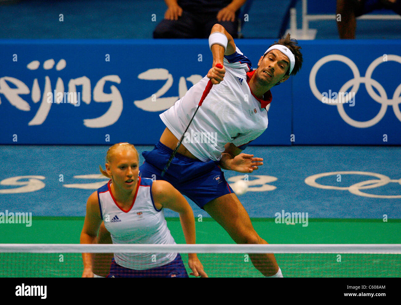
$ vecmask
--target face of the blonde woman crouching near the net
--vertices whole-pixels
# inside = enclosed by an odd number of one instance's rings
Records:
[[[133,190],[138,182],[139,165],[136,152],[132,149],[120,149],[113,154],[107,173],[111,175],[114,184],[124,190]]]

